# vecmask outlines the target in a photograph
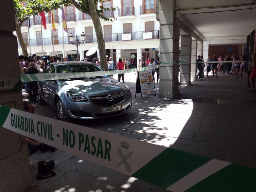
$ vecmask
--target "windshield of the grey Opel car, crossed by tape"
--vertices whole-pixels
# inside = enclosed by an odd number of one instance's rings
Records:
[[[77,64],[77,65],[62,65],[57,67],[58,73],[79,73],[79,72],[95,72],[95,71],[103,71],[96,65],[93,64]],[[108,75],[103,76],[93,76],[93,77],[83,77],[83,78],[75,78],[75,79],[60,79],[60,80],[77,80],[77,79],[95,79],[95,78],[107,78]]]

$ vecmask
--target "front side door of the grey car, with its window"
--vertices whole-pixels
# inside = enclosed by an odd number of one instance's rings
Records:
[[[48,70],[47,70],[48,69]],[[55,73],[55,66],[50,64],[47,66],[45,72],[50,75],[51,73]],[[56,91],[56,87],[57,86],[57,83],[56,83],[56,80],[48,80],[48,81],[44,81],[42,83],[42,87],[43,87],[43,90],[44,90],[44,97],[47,101],[47,103],[49,105],[52,105],[54,106],[54,94],[55,94],[55,91]]]

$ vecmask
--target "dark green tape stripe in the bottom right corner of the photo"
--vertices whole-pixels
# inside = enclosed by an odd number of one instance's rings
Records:
[[[230,164],[186,192],[256,191],[256,169]]]

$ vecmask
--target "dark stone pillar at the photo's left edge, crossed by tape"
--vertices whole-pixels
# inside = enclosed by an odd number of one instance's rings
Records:
[[[16,31],[14,16],[13,1],[0,1],[0,52],[3,58],[12,58],[8,65],[0,65],[1,81],[20,78],[17,37],[13,35]],[[0,105],[23,110],[21,89],[1,90]],[[24,138],[0,127],[0,191],[38,191],[38,186],[32,184],[28,146]]]

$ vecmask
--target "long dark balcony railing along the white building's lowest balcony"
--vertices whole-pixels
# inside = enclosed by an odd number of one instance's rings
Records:
[[[112,42],[112,41],[129,41],[129,40],[142,40],[143,39],[143,34],[144,33],[152,33],[152,37],[151,34],[150,37],[147,36],[147,39],[159,39],[159,31],[138,31],[138,32],[129,32],[129,33],[110,33],[110,34],[103,34],[104,36],[104,41],[105,42]],[[127,34],[131,34],[131,38],[124,39],[123,35],[127,35]],[[81,40],[81,36],[77,36],[78,40]],[[144,36],[145,38],[145,36]],[[24,41],[26,45],[28,45],[28,40]],[[68,44],[69,42],[69,38],[68,37],[54,37],[54,44],[58,45],[58,44]],[[97,37],[96,35],[86,35],[85,38],[85,43],[94,43],[97,42]],[[53,44],[53,39],[50,38],[43,38],[43,45],[52,45]],[[31,39],[30,40],[30,45],[31,46],[41,46],[42,45],[42,40],[41,38],[39,39]],[[18,46],[20,46],[19,41],[18,41]]]

